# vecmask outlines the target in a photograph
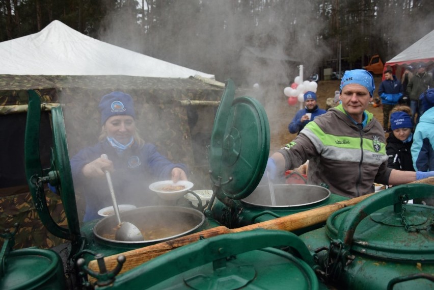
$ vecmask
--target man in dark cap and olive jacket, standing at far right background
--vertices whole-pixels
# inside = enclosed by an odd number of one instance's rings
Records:
[[[409,84],[407,85],[407,92],[410,95],[410,108],[412,109],[413,117],[417,118],[415,124],[419,123],[420,108],[419,108],[419,96],[429,88],[434,87],[432,77],[426,72],[425,64],[420,63],[417,66],[417,72],[413,75]]]

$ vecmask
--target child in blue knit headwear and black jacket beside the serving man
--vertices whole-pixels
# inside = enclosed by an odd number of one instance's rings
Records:
[[[408,106],[397,106],[390,114],[392,134],[386,140],[387,167],[389,168],[415,171],[411,153],[413,123],[410,114],[411,109]]]

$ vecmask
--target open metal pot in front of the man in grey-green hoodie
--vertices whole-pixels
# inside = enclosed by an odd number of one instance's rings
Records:
[[[268,185],[258,186],[241,202],[262,207],[291,207],[315,204],[330,196],[327,188],[307,184],[273,184],[273,188],[276,205],[272,205]]]

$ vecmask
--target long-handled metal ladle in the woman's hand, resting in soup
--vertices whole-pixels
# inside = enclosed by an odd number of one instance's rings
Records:
[[[108,156],[106,154],[102,154],[101,158],[108,160]],[[108,189],[110,189],[110,194],[112,195],[113,209],[115,210],[115,215],[118,218],[118,224],[119,224],[119,228],[116,231],[115,239],[117,241],[128,241],[128,242],[144,241],[145,238],[143,237],[142,232],[139,230],[137,226],[129,222],[121,222],[121,217],[119,215],[119,207],[115,196],[115,190],[113,189],[112,177],[110,176],[110,172],[108,172],[108,170],[105,170],[105,177],[107,178]]]

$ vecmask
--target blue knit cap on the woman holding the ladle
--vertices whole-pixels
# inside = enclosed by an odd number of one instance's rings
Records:
[[[135,119],[134,103],[132,97],[123,92],[112,92],[101,98],[98,105],[98,110],[101,113],[101,124],[112,116],[126,115]]]

